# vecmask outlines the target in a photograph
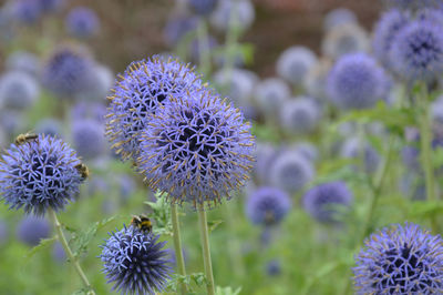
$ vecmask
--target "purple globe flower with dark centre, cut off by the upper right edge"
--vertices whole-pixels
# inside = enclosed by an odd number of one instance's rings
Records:
[[[435,80],[443,73],[443,27],[410,22],[393,40],[390,58],[395,72],[409,82]]]

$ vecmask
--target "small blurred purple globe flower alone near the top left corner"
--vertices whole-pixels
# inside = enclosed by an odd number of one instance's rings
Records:
[[[66,31],[76,38],[90,38],[100,29],[99,17],[86,7],[76,7],[65,20]]]

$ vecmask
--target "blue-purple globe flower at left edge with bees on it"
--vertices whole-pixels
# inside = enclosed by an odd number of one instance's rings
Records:
[[[63,141],[38,135],[23,144],[11,144],[0,160],[0,194],[10,208],[44,215],[75,200],[83,179],[74,150]]]

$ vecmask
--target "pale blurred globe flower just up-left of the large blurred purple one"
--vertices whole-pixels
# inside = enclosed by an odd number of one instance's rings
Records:
[[[293,85],[301,85],[306,75],[317,63],[316,54],[305,47],[291,47],[277,60],[277,73]]]

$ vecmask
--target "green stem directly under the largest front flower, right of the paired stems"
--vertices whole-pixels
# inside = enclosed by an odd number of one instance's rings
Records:
[[[202,247],[203,247],[203,263],[205,266],[206,275],[206,286],[207,294],[215,294],[214,275],[213,275],[213,264],[210,262],[210,250],[209,250],[209,234],[207,227],[206,212],[203,205],[198,208],[198,223],[202,236]]]

